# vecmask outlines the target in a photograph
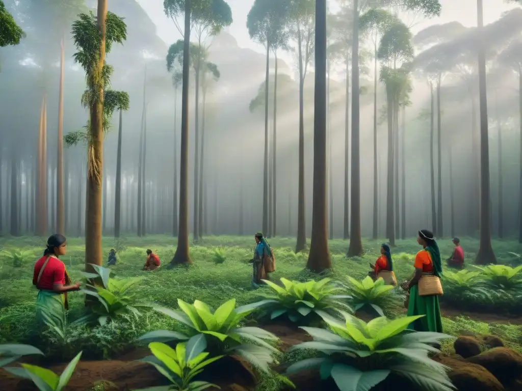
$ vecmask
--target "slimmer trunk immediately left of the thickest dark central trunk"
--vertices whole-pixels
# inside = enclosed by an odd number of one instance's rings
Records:
[[[301,28],[298,25],[298,55],[299,55],[299,183],[297,211],[297,242],[295,252],[301,252],[306,247],[306,212],[304,202],[304,66]]]

